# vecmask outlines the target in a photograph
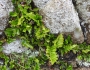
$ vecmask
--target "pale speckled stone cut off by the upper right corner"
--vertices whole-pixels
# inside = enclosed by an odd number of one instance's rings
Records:
[[[90,23],[90,0],[75,0],[76,9],[82,21]]]

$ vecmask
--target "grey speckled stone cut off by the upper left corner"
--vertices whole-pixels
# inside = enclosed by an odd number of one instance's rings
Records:
[[[7,26],[9,12],[13,10],[11,0],[0,0],[0,35]]]

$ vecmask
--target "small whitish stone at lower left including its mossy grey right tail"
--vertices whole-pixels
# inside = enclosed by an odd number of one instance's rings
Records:
[[[28,57],[36,57],[39,55],[39,51],[32,51],[31,49],[22,46],[20,39],[16,39],[11,43],[5,42],[5,44],[2,47],[3,53],[5,53],[6,55],[13,53],[25,53],[26,55],[28,55]]]

